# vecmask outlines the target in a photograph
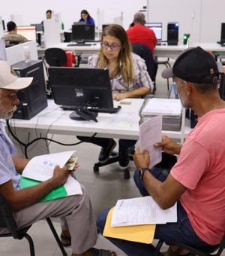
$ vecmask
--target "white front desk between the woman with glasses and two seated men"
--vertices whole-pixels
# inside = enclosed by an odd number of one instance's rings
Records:
[[[98,133],[98,137],[138,139],[139,109],[144,99],[124,99],[121,102],[129,102],[130,105],[121,105],[121,110],[116,114],[99,114],[97,117],[98,123],[95,123],[92,120],[71,120],[69,118],[71,111],[63,111],[52,100],[49,100],[48,107],[31,118],[31,120],[11,119],[10,126],[16,131],[17,137],[25,143],[31,142],[31,140],[36,139],[40,134],[42,137],[52,138],[54,134],[92,136],[94,133]],[[181,131],[163,131],[163,135],[167,135],[173,139],[179,139],[183,142],[184,125],[182,125]],[[14,144],[17,145],[17,143]],[[47,153],[48,149],[46,149],[43,141],[38,142],[38,145],[35,145],[32,151],[29,151],[29,157]],[[17,154],[23,155],[20,145],[16,148]]]

